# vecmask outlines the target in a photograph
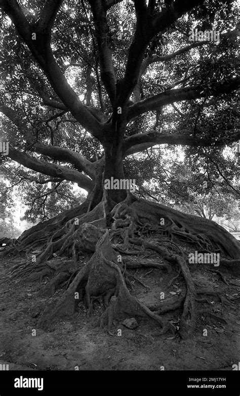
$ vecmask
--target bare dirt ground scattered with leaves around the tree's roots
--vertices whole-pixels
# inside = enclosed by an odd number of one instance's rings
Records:
[[[128,259],[136,259],[131,257]],[[82,265],[87,259],[82,257]],[[0,261],[0,364],[9,364],[9,370],[232,370],[239,361],[240,282],[230,275],[225,275],[227,285],[218,274],[208,271],[210,267],[191,267],[196,287],[218,291],[223,305],[216,295],[201,296],[208,301],[196,303],[201,313],[194,336],[181,341],[177,333],[159,335],[156,323],[137,317],[138,327],[134,330],[125,327],[120,319],[110,330],[98,328],[95,322],[104,309],[98,300],[90,318],[80,302],[79,312],[72,317],[53,323],[47,330],[38,328],[39,315],[57,300],[66,285],[54,296],[41,297],[50,278],[45,277],[41,283],[10,278],[9,272],[19,260],[24,257]],[[67,258],[54,260],[62,262]],[[184,291],[182,277],[167,287],[177,274],[174,268],[169,274],[156,268],[150,273],[149,268],[129,272],[144,283],[134,279],[132,293],[145,304],[159,303],[163,291],[166,300],[176,299]],[[177,326],[181,310],[166,315]]]

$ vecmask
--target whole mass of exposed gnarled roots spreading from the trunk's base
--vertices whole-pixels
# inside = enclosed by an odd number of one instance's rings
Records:
[[[197,316],[195,303],[204,302],[198,295],[215,294],[221,302],[223,301],[217,292],[195,290],[187,257],[184,256],[178,241],[188,243],[193,251],[195,249],[198,252],[220,252],[220,267],[232,270],[233,273],[239,271],[239,243],[214,222],[178,212],[161,204],[136,199],[131,194],[127,194],[125,201],[114,205],[113,202],[107,201],[104,193],[102,201],[89,210],[91,202],[88,201],[88,204],[33,227],[15,241],[12,251],[25,251],[28,260],[12,269],[13,277],[24,276],[25,281],[42,281],[44,277],[54,274],[53,279],[41,290],[44,296],[53,295],[63,285],[67,287],[57,303],[52,303],[48,307],[38,324],[49,325],[61,316],[72,315],[77,311],[81,299],[85,299],[87,315],[90,316],[93,312],[93,301],[102,297],[106,310],[99,318],[100,326],[111,326],[114,318],[140,316],[157,322],[164,333],[174,329],[159,315],[182,309],[179,335],[182,339],[191,337]],[[142,235],[160,237],[157,242],[150,242],[146,237],[141,238]],[[32,248],[37,246],[39,241],[45,241],[46,245],[35,255],[36,261],[32,262]],[[82,252],[91,252],[93,255],[84,267],[79,268],[78,255]],[[119,260],[119,253],[124,256],[146,257],[152,252],[160,258],[131,260],[122,259],[120,255]],[[63,255],[71,257],[72,260],[56,263],[54,260],[49,261],[53,256]],[[161,257],[168,263],[159,262]],[[169,282],[168,287],[182,274],[186,284],[185,293],[149,306],[140,303],[130,294],[129,289],[132,289],[133,285],[129,278],[135,279],[145,288],[150,287],[126,269],[131,271],[135,268],[157,268],[170,273],[172,266],[176,266],[179,272]],[[211,271],[218,273],[228,284],[219,271]],[[150,271],[147,272],[149,273]]]

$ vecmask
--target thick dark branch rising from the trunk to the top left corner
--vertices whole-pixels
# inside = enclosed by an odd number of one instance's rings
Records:
[[[2,0],[0,5],[14,23],[18,33],[25,41],[39,66],[41,66],[45,72],[51,86],[62,103],[89,133],[101,141],[103,131],[101,123],[91,114],[89,109],[80,102],[77,94],[68,84],[53,56],[49,28],[56,15],[56,8],[52,7],[50,3],[50,1],[47,2],[45,9],[45,11],[52,10],[51,16],[47,18],[47,25],[44,21],[41,22],[41,17],[39,21],[30,25],[16,0]],[[54,0],[53,3],[55,6],[59,4],[57,0]],[[47,30],[45,29],[46,26]],[[32,39],[32,34],[35,34],[35,39]]]

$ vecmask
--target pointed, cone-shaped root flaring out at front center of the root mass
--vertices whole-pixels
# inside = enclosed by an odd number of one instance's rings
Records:
[[[96,251],[86,266],[79,271],[69,288],[60,297],[56,306],[50,306],[39,320],[40,326],[50,324],[62,315],[71,315],[76,309],[79,294],[84,295],[88,309],[91,310],[91,298],[107,295],[109,305],[99,320],[99,325],[111,325],[115,317],[140,316],[149,317],[162,326],[162,332],[173,329],[173,326],[163,318],[151,312],[145,305],[131,296],[122,275],[122,265],[117,262],[117,255],[109,242],[109,232],[106,231],[98,241]],[[109,290],[115,290],[114,296]],[[82,291],[82,293],[80,293]],[[106,301],[107,303],[107,301]]]

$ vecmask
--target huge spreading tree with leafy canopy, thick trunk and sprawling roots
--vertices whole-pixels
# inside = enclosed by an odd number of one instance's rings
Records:
[[[13,275],[42,280],[54,271],[47,294],[70,278],[39,324],[71,315],[76,296],[85,298],[90,315],[94,298],[104,296],[101,326],[136,315],[156,321],[162,332],[175,331],[163,314],[182,306],[179,334],[190,336],[197,290],[178,242],[192,251],[218,252],[220,266],[232,271],[239,265],[239,243],[208,219],[141,199],[126,184],[119,187],[126,180],[124,164],[135,153],[169,144],[194,155],[206,149],[211,158],[239,139],[234,2],[2,0],[1,7],[3,164],[15,161],[40,173],[39,183],[74,182],[88,192],[81,205],[25,231],[5,252],[42,246],[33,265],[30,260],[16,266]],[[198,40],[189,33],[194,29],[215,34]],[[105,188],[111,180],[118,188]],[[149,233],[161,238],[149,241]],[[168,263],[122,257],[145,250]],[[81,251],[93,255],[79,269]],[[66,252],[72,260],[51,266],[53,255]],[[128,267],[141,266],[176,266],[185,295],[158,306],[140,303],[129,291]]]

